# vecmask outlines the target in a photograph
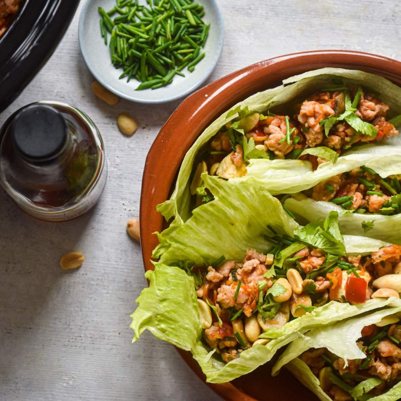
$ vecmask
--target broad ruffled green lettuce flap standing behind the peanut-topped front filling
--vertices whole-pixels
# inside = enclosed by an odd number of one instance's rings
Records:
[[[265,252],[271,246],[265,238],[271,235],[267,225],[277,233],[293,236],[298,224],[253,178],[227,182],[207,174],[202,177],[214,200],[196,208],[183,225],[159,234],[163,252],[158,248],[155,256],[161,256],[161,263],[191,261],[203,265],[221,255],[240,261],[247,249]]]

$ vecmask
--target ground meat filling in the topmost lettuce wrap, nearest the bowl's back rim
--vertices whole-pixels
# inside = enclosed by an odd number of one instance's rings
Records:
[[[308,159],[315,170],[320,163],[327,160],[308,154],[301,156],[304,149],[326,146],[340,154],[358,142],[374,142],[399,134],[393,124],[387,121],[389,105],[383,103],[376,95],[360,90],[362,93],[355,111],[356,118],[368,123],[372,130],[376,128],[376,135],[367,135],[365,131],[364,134],[357,132],[344,120],[344,117],[341,117],[345,111],[346,96],[349,95],[350,99],[354,99],[356,94],[360,93],[358,88],[314,93],[304,101],[289,106],[291,113],[287,115],[282,114],[286,111],[284,106],[280,106],[277,115],[270,111],[265,112],[267,115],[256,113],[256,118],[252,118],[252,124],[243,126],[240,124],[242,127],[240,130],[243,130],[248,141],[253,140],[257,150],[265,152],[265,157]],[[243,119],[248,118],[249,122],[249,117],[252,117],[252,114]],[[334,118],[333,124],[326,127],[326,122],[331,117]],[[231,125],[235,122],[242,123],[243,119],[234,117],[207,144],[209,156],[205,162],[210,174],[217,174],[222,178],[246,174],[249,160],[244,158],[242,138],[235,139],[235,134],[230,132]],[[224,161],[225,156],[229,154],[231,161]],[[251,156],[253,157],[259,156]],[[221,168],[216,167],[219,164]],[[358,207],[357,203],[354,203],[354,209]]]

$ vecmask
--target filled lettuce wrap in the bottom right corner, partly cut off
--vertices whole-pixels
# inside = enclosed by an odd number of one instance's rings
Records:
[[[348,399],[348,393],[349,399],[355,401],[398,400],[401,397],[399,375],[397,371],[396,375],[391,375],[395,369],[391,363],[383,370],[387,359],[381,355],[385,352],[388,357],[391,352],[397,352],[398,332],[401,330],[397,316],[401,311],[401,300],[389,298],[381,301],[384,301],[383,307],[375,312],[315,328],[294,340],[273,367],[272,374],[277,375],[285,366],[324,401],[332,400],[336,392],[337,397],[340,396],[338,392],[345,396],[343,399]],[[311,348],[316,350],[308,351]],[[376,369],[377,364],[382,370]],[[319,378],[311,369],[315,369],[316,374],[320,370]],[[340,390],[333,391],[333,386]],[[380,389],[376,389],[378,386]]]

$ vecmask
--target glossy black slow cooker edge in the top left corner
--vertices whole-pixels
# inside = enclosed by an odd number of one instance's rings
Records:
[[[24,0],[0,38],[0,111],[24,89],[51,56],[79,0]]]

